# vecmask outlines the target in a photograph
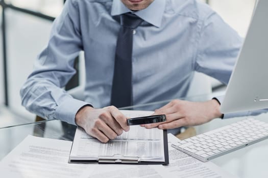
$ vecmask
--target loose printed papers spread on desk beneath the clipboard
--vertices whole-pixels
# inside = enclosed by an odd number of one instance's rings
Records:
[[[74,164],[68,163],[71,141],[29,135],[1,162],[1,177],[234,177],[211,162],[203,163],[171,145],[179,139],[168,134],[169,164]]]

